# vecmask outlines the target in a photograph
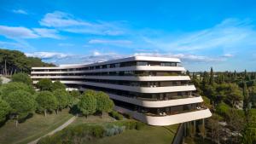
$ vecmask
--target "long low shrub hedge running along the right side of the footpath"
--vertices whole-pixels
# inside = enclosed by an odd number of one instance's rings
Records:
[[[119,135],[125,130],[142,130],[145,124],[135,120],[116,121],[103,125],[79,124],[67,127],[55,135],[49,135],[38,141],[38,144],[86,143],[104,136]]]

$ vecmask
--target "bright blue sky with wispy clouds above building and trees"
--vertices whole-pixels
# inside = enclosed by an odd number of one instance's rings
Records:
[[[55,64],[152,55],[256,71],[255,20],[253,0],[0,0],[0,48]]]

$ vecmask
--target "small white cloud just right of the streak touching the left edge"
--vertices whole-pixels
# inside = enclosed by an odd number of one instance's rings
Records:
[[[55,29],[48,29],[48,28],[33,28],[33,31],[36,32],[40,37],[49,37],[55,39],[61,39]]]

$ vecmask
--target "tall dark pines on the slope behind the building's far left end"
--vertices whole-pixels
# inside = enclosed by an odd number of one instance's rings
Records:
[[[27,57],[18,50],[0,49],[0,74],[12,75],[17,72],[30,72],[32,66],[55,66],[36,57]]]

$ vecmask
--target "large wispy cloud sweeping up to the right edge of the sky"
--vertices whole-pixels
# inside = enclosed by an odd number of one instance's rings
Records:
[[[205,49],[237,49],[256,45],[256,32],[249,20],[226,19],[205,30],[184,33],[172,38],[144,37],[147,43],[159,49],[196,51]]]

